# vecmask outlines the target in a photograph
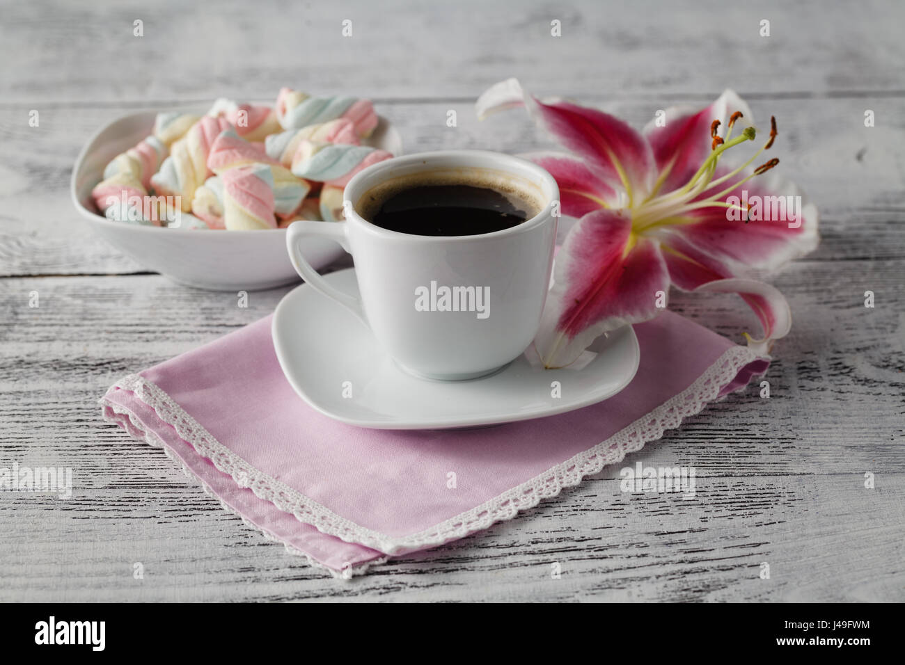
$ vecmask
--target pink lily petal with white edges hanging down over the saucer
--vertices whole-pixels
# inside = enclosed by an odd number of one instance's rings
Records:
[[[628,214],[596,210],[566,236],[535,347],[547,367],[575,362],[603,333],[657,316],[670,279],[657,242],[632,233]]]

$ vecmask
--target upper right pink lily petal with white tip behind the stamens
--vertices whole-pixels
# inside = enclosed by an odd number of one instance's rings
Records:
[[[666,172],[658,194],[667,194],[685,185],[701,163],[710,155],[710,123],[719,120],[721,136],[725,136],[729,118],[736,111],[735,136],[754,122],[751,109],[734,90],[725,90],[710,106],[694,110],[687,107],[666,109],[662,121],[653,119],[643,130],[653,149],[657,168]],[[664,124],[665,123],[665,124]],[[667,170],[668,169],[668,170]]]

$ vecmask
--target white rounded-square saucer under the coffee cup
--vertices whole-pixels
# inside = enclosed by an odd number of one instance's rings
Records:
[[[355,269],[325,279],[357,295]],[[545,370],[526,352],[495,375],[427,381],[396,366],[361,321],[305,284],[281,300],[271,331],[283,374],[308,404],[343,423],[389,430],[474,427],[574,411],[621,391],[641,358],[626,326],[598,339],[589,349],[596,355],[581,369]],[[351,396],[343,396],[349,389]]]

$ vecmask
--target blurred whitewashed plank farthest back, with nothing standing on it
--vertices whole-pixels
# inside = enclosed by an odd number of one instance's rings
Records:
[[[519,76],[608,97],[726,85],[770,94],[905,90],[905,8],[893,0],[754,5],[584,0],[413,5],[167,0],[7,3],[5,102],[269,97],[281,85],[381,99],[471,99]],[[144,22],[144,36],[133,22]],[[342,21],[352,36],[342,36]],[[760,22],[770,20],[770,36]],[[551,36],[551,21],[561,37]],[[350,86],[350,83],[354,85]]]

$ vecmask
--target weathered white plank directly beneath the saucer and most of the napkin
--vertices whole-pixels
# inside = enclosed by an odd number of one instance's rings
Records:
[[[702,475],[905,471],[905,261],[818,262],[777,282],[796,313],[776,343],[770,398],[752,385],[713,404],[658,444],[652,459]],[[877,307],[863,307],[863,290]],[[28,307],[37,290],[38,309]],[[186,290],[159,276],[0,281],[10,318],[0,327],[0,444],[53,465],[89,465],[99,485],[140,478],[134,446],[100,424],[96,400],[121,376],[269,314],[286,289]],[[678,294],[673,308],[741,341],[753,324],[733,296]],[[41,423],[35,428],[35,423]],[[665,446],[665,447],[664,447]],[[8,447],[8,448],[7,448]],[[65,463],[63,463],[65,462]]]

